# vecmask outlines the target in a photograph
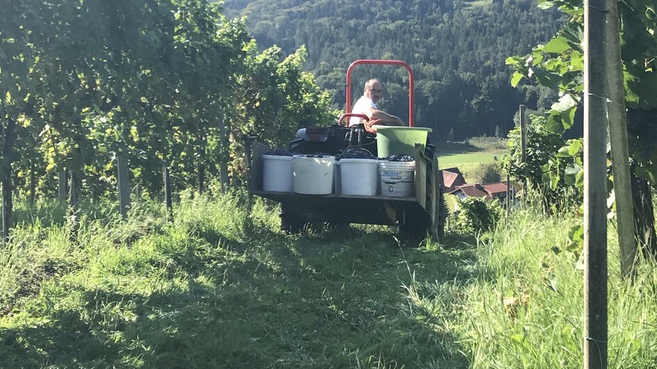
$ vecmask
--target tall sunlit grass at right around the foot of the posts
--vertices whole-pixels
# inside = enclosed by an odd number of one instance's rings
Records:
[[[467,314],[456,323],[473,367],[583,366],[583,272],[563,250],[572,222],[518,212],[480,246]],[[609,234],[609,367],[654,368],[656,264],[644,262],[633,285],[620,280],[613,228]]]

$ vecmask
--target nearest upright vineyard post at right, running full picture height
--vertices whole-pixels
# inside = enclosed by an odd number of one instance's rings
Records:
[[[584,1],[584,368],[607,368],[604,9],[605,0]]]

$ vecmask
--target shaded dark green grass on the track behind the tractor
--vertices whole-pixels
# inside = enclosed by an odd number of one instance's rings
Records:
[[[417,298],[435,293],[430,285],[467,284],[471,249],[401,248],[390,232],[358,228],[244,233],[194,234],[221,247],[185,252],[165,289],[76,286],[77,307],[43,309],[49,323],[2,333],[0,366],[468,366],[440,329],[449,316]]]

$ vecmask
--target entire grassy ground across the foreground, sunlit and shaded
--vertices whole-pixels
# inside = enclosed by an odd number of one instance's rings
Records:
[[[375,226],[287,236],[274,205],[244,209],[183,196],[166,223],[140,203],[83,216],[76,242],[24,223],[0,253],[0,367],[582,366],[582,273],[552,250],[572,218],[400,245]],[[656,363],[654,266],[629,286],[610,265],[612,368]]]

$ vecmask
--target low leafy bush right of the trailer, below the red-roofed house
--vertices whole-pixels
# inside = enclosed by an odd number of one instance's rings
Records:
[[[457,200],[455,229],[466,234],[479,234],[497,226],[502,209],[497,201],[469,197]]]

